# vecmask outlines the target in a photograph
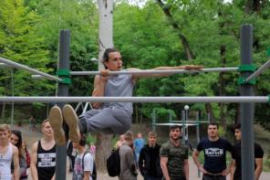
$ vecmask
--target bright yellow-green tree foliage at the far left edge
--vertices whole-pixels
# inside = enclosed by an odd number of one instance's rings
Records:
[[[1,1],[0,56],[34,69],[49,72],[51,69],[45,69],[48,63],[48,53],[44,46],[44,37],[36,34],[36,23],[39,21],[39,16],[35,12],[27,11],[23,3],[22,0]],[[1,83],[5,85],[5,92],[7,92],[4,94],[11,95],[9,70],[1,71],[1,73],[4,75]],[[51,89],[52,86],[47,81],[36,81],[31,79],[28,72],[14,70],[15,95],[47,95],[47,90]]]

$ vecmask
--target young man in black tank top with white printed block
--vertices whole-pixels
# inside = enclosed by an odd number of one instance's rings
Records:
[[[54,131],[48,120],[42,122],[43,138],[33,144],[31,151],[31,175],[33,180],[55,179],[57,149]]]

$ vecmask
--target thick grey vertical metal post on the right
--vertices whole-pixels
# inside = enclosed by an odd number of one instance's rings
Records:
[[[241,65],[252,65],[253,26],[241,26]],[[241,72],[241,77],[248,77],[252,72]],[[241,84],[241,96],[253,96],[254,89],[250,84]],[[241,154],[242,179],[254,180],[254,103],[241,103]]]

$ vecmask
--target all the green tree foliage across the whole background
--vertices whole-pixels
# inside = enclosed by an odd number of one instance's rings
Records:
[[[240,26],[254,25],[254,64],[265,63],[270,48],[270,2],[234,0],[231,3],[203,0],[162,0],[171,14],[164,14],[156,0],[146,5],[115,1],[114,45],[121,51],[125,68],[151,69],[157,66],[203,65],[205,68],[237,67],[240,60]],[[57,69],[59,29],[70,29],[72,70],[96,70],[99,15],[94,0],[3,0],[0,4],[0,55],[32,68],[54,74]],[[173,27],[177,25],[178,28]],[[187,59],[180,33],[188,41],[192,58]],[[0,93],[9,95],[10,70],[0,71]],[[16,95],[54,93],[54,82],[36,81],[15,70]],[[237,96],[237,72],[180,74],[162,79],[140,79],[134,96]],[[257,78],[255,94],[267,95],[269,69]],[[31,83],[26,83],[31,82]],[[89,95],[93,77],[73,79],[71,95]],[[234,123],[238,104],[189,104],[192,110],[212,111],[213,118]],[[151,111],[164,116],[174,111],[181,118],[184,104],[137,104],[140,114],[151,119]],[[265,111],[267,110],[267,111]],[[255,120],[270,127],[269,104],[256,104]],[[225,130],[225,129],[224,129]]]

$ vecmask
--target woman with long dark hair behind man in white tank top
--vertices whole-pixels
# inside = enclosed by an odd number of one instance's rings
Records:
[[[18,148],[19,164],[20,164],[20,180],[26,180],[28,175],[26,167],[26,151],[22,145],[23,144],[22,132],[17,130],[11,131],[10,143],[13,143]]]

